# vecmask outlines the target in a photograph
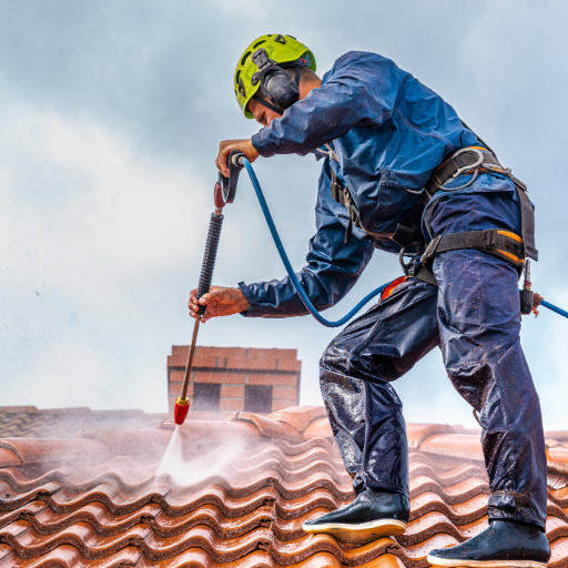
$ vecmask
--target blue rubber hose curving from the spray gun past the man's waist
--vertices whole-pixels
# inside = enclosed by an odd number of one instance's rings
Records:
[[[347,315],[342,317],[341,320],[337,320],[336,322],[329,322],[325,317],[322,317],[317,310],[314,307],[312,302],[310,302],[310,298],[307,297],[307,294],[304,292],[304,288],[302,287],[302,284],[297,280],[297,276],[294,272],[294,268],[292,267],[292,264],[290,264],[288,256],[286,254],[286,251],[284,251],[284,245],[282,244],[282,241],[278,235],[278,231],[276,229],[276,225],[274,224],[274,221],[272,219],[271,212],[268,210],[268,205],[266,204],[266,200],[264,199],[264,193],[262,192],[261,184],[258,183],[258,180],[256,179],[256,174],[254,173],[253,166],[251,165],[251,162],[246,158],[242,158],[241,162],[248,172],[248,176],[251,178],[251,182],[253,184],[254,191],[256,192],[256,196],[258,197],[258,203],[261,204],[262,212],[264,213],[264,219],[266,219],[266,224],[268,225],[268,229],[271,230],[272,239],[274,239],[274,244],[276,245],[276,248],[278,250],[280,257],[282,258],[282,262],[284,263],[284,266],[286,268],[286,272],[288,273],[290,280],[292,281],[292,284],[294,286],[294,290],[296,291],[297,295],[301,297],[302,303],[306,307],[306,310],[323,325],[326,325],[327,327],[341,327],[342,325],[346,324],[367,302],[373,300],[374,297],[378,296],[392,282],[387,282],[386,284],[383,284],[378,288],[371,292],[371,294],[367,294]],[[546,300],[542,300],[540,302],[541,306],[548,307],[548,310],[551,310],[556,314],[562,315],[564,317],[568,318],[568,312],[565,312],[558,306],[555,306],[554,304],[550,304],[550,302],[547,302]]]

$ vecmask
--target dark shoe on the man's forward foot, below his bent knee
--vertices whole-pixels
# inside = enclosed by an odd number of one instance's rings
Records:
[[[381,537],[403,535],[408,523],[410,501],[398,493],[365,489],[341,509],[302,527],[306,532],[327,532],[337,540],[363,545]]]

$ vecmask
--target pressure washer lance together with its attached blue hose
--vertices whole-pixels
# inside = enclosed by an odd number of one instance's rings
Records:
[[[225,178],[221,173],[219,174],[219,181],[215,185],[215,213],[211,216],[210,222],[210,230],[207,235],[207,243],[205,245],[205,255],[203,257],[203,265],[201,270],[201,277],[200,277],[200,285],[197,287],[197,298],[200,298],[203,294],[206,294],[211,288],[211,281],[213,277],[213,266],[215,264],[215,256],[216,251],[219,246],[219,239],[221,236],[221,225],[223,223],[223,215],[221,213],[221,210],[224,207],[226,203],[232,203],[235,193],[236,193],[236,182],[239,180],[239,173],[240,171],[245,168],[246,172],[248,173],[248,176],[251,179],[251,182],[253,184],[254,191],[256,193],[256,197],[258,199],[258,203],[261,205],[262,212],[264,214],[264,219],[266,220],[266,224],[268,225],[270,232],[272,234],[272,237],[274,240],[274,244],[276,245],[276,250],[278,251],[280,257],[282,258],[282,262],[284,264],[284,267],[286,268],[286,273],[292,282],[292,285],[294,286],[294,290],[296,291],[297,295],[302,300],[302,303],[306,307],[306,310],[317,320],[321,324],[327,326],[327,327],[339,327],[344,324],[346,324],[365,304],[367,304],[371,300],[378,296],[383,293],[383,291],[388,287],[394,281],[387,282],[386,284],[383,284],[378,288],[374,290],[369,294],[367,294],[347,315],[342,317],[341,320],[337,320],[336,322],[331,322],[328,320],[325,320],[317,310],[314,307],[310,298],[307,297],[307,294],[305,293],[304,288],[302,287],[302,284],[300,283],[294,268],[292,267],[292,264],[288,260],[288,256],[286,254],[286,251],[284,250],[284,245],[282,244],[282,240],[278,235],[278,231],[276,230],[276,225],[274,224],[274,221],[272,219],[272,214],[268,210],[268,205],[266,203],[266,200],[264,199],[263,191],[261,189],[261,184],[258,183],[258,180],[256,179],[256,174],[254,173],[253,166],[251,165],[251,162],[248,162],[248,159],[245,154],[242,152],[233,151],[231,152],[229,156],[229,178]],[[565,310],[561,310],[558,306],[555,306],[554,304],[550,304],[549,302],[546,302],[541,296],[538,296],[530,290],[530,264],[529,261],[527,261],[525,265],[525,281],[523,290],[519,291],[520,293],[520,312],[524,315],[528,315],[538,305],[541,305],[544,307],[547,307],[548,310],[551,310],[552,312],[567,317],[568,318],[568,312]],[[537,297],[538,296],[538,297]],[[535,298],[537,301],[535,301]],[[205,306],[200,306],[200,314],[203,314],[205,312]],[[195,353],[195,341],[197,338],[197,329],[200,325],[200,316],[195,318],[195,327],[193,331],[193,339],[190,347],[190,355],[187,358],[187,366],[185,368],[185,379],[183,383],[183,390],[182,395],[178,398],[175,402],[175,408],[174,408],[174,420],[175,424],[183,424],[185,420],[185,417],[187,416],[187,410],[190,408],[189,399],[186,397],[187,394],[187,383],[191,374],[191,366],[193,363],[193,354]]]

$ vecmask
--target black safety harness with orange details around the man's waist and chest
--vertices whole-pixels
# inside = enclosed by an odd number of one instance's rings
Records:
[[[479,136],[477,138],[479,139]],[[338,162],[332,146],[326,144],[326,148],[329,151],[329,156]],[[349,223],[345,231],[345,243],[348,243],[353,225],[362,226],[359,215],[348,187],[341,183],[333,168],[331,170],[332,196],[337,203],[345,205],[349,213]],[[434,195],[438,191],[449,193],[468,187],[473,185],[480,173],[488,172],[505,175],[514,182],[521,215],[521,235],[505,229],[466,231],[438,235],[426,245],[422,233],[422,216]],[[446,185],[462,175],[470,175],[470,179],[457,187]],[[538,251],[535,245],[535,212],[527,193],[526,185],[513,175],[510,169],[504,168],[499,163],[493,151],[483,146],[468,146],[458,150],[434,170],[424,189],[419,210],[399,222],[395,232],[388,235],[388,239],[400,246],[399,258],[405,274],[437,285],[432,272],[436,254],[463,248],[478,248],[515,266],[520,277],[525,267],[525,258],[538,261]],[[408,251],[410,247],[413,247],[412,254]],[[420,254],[420,262],[414,262],[414,258]],[[413,256],[413,260],[405,262],[404,257],[408,255]],[[528,285],[530,286],[529,283]]]

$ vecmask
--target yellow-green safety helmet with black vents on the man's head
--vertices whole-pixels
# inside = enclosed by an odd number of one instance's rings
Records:
[[[248,102],[261,89],[262,69],[260,74],[258,51],[264,50],[267,55],[264,58],[265,64],[261,63],[261,68],[278,67],[292,67],[291,64],[297,63],[297,65],[308,67],[312,71],[315,71],[315,58],[314,54],[307,49],[306,45],[297,41],[292,36],[283,36],[280,33],[267,33],[256,38],[243,52],[239,59],[239,63],[235,69],[234,78],[234,90],[236,102],[244,115],[247,119],[254,119],[252,113],[248,111]],[[256,55],[253,61],[253,55]],[[288,63],[286,65],[286,63]],[[294,65],[295,67],[295,65]],[[274,73],[273,73],[274,74]],[[287,72],[286,72],[287,74]],[[286,78],[290,81],[290,78]],[[291,81],[293,82],[293,81]],[[295,83],[294,83],[295,84]],[[297,85],[296,85],[297,87]]]

